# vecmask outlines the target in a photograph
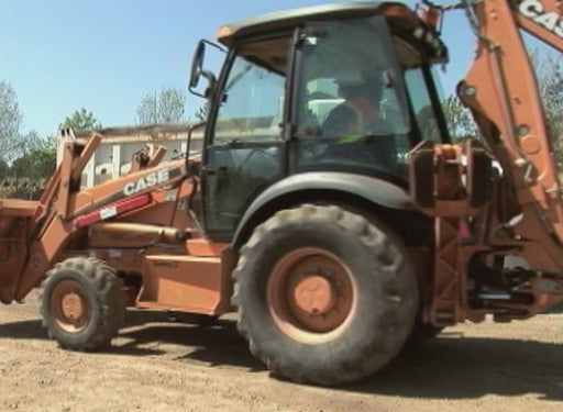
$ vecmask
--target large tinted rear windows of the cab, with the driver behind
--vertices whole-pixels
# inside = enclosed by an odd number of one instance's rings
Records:
[[[404,179],[410,148],[442,141],[428,68],[385,19],[311,24],[299,62],[297,170]]]

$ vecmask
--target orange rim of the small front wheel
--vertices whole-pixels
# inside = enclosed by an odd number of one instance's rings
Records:
[[[58,282],[51,294],[51,316],[56,324],[69,333],[86,329],[91,309],[85,288],[74,280]]]

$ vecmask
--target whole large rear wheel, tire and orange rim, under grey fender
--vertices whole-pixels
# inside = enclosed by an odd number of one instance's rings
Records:
[[[339,385],[379,370],[418,308],[400,241],[338,207],[278,212],[242,248],[233,278],[251,352],[295,381]]]

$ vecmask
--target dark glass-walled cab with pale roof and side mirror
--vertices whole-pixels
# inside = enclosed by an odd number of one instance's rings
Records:
[[[212,238],[232,238],[252,201],[310,171],[407,186],[407,154],[448,142],[431,66],[448,59],[435,31],[395,2],[290,10],[228,24],[221,73],[207,79],[202,212]],[[347,175],[346,175],[347,176]],[[352,176],[352,175],[351,175]]]

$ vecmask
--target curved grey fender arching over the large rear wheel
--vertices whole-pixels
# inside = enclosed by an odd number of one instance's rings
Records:
[[[369,176],[338,171],[310,171],[289,176],[264,190],[244,212],[232,244],[241,242],[249,222],[261,209],[286,194],[309,190],[331,190],[362,197],[389,209],[421,212],[409,194],[400,187]]]

